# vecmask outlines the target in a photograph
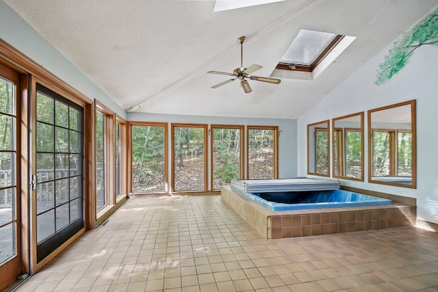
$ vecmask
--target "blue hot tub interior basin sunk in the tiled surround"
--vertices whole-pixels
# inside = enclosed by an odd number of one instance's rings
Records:
[[[272,211],[392,204],[391,200],[385,198],[357,194],[342,189],[331,191],[266,191],[259,193],[240,191],[240,193]]]

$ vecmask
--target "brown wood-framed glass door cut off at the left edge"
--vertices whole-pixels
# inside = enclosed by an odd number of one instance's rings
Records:
[[[18,73],[0,64],[0,290],[21,274],[18,133]]]

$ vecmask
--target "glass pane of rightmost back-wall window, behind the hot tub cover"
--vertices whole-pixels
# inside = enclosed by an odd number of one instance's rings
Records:
[[[248,129],[248,179],[274,178],[274,130]]]

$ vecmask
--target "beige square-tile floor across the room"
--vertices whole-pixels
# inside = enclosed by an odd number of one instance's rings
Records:
[[[17,291],[438,291],[438,233],[263,239],[220,196],[131,196]]]

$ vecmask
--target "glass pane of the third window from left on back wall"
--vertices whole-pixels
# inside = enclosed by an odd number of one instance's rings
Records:
[[[213,189],[240,178],[241,129],[213,129]]]

